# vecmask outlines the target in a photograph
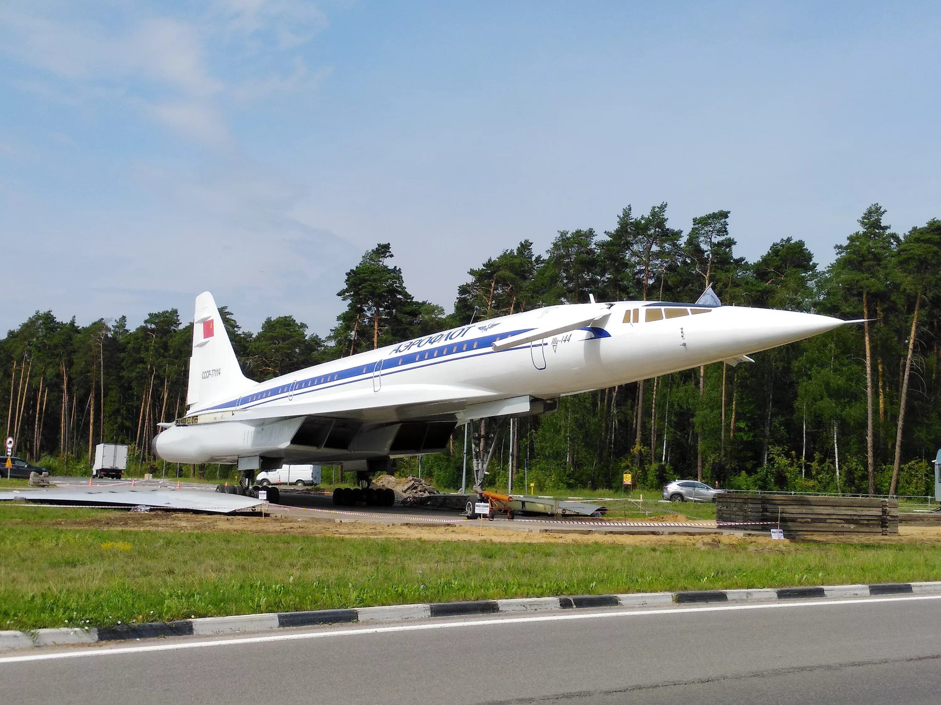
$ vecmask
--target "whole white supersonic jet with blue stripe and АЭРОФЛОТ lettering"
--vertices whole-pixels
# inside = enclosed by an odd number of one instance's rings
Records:
[[[212,294],[196,299],[187,413],[153,440],[169,462],[237,463],[250,483],[284,462],[342,462],[361,483],[391,458],[444,449],[458,424],[553,410],[559,397],[628,384],[833,330],[811,313],[621,301],[554,305],[473,322],[298,370],[247,379]]]

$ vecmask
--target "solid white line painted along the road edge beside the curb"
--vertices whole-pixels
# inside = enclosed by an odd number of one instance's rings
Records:
[[[738,612],[749,609],[793,609],[796,607],[827,607],[838,604],[873,604],[907,603],[921,600],[941,600],[941,595],[915,595],[910,597],[859,598],[855,600],[815,600],[796,603],[765,604],[721,604],[711,607],[670,607],[664,609],[632,609],[614,612],[566,613],[563,615],[545,615],[542,617],[506,617],[489,619],[466,619],[464,621],[443,621],[427,624],[399,624],[394,627],[369,627],[360,629],[338,629],[331,632],[305,632],[302,634],[242,636],[232,639],[214,639],[212,641],[188,641],[175,644],[153,644],[150,646],[118,647],[111,649],[85,649],[61,651],[58,653],[37,653],[28,656],[6,656],[0,658],[0,664],[20,664],[27,661],[53,661],[73,659],[85,656],[112,656],[122,653],[144,653],[147,651],[175,651],[183,649],[204,649],[217,646],[240,646],[243,644],[263,644],[269,641],[295,641],[297,639],[322,639],[334,636],[355,636],[387,634],[393,632],[421,632],[431,629],[454,629],[455,627],[484,627],[495,624],[526,624],[543,621],[568,621],[570,619],[605,619],[614,617],[646,617],[649,615],[681,615],[690,612]]]

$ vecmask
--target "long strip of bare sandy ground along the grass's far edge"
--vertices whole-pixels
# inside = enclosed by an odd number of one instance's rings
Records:
[[[196,531],[291,536],[333,536],[356,539],[412,540],[490,540],[498,543],[619,543],[625,545],[686,544],[700,546],[754,545],[780,546],[790,541],[776,541],[767,536],[683,536],[649,534],[548,533],[502,529],[499,525],[383,525],[366,522],[338,522],[319,519],[282,517],[237,517],[201,514],[152,512],[132,514],[114,512],[87,519],[49,519],[29,525],[59,528],[130,529],[143,531]],[[818,540],[853,543],[929,543],[941,544],[941,527],[902,526],[895,536],[821,536]]]

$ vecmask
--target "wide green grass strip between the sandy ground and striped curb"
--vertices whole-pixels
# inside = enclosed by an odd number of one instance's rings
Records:
[[[491,543],[36,525],[0,507],[0,629],[543,595],[941,579],[930,544]]]

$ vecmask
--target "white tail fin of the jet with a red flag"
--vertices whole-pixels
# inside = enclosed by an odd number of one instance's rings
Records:
[[[189,388],[186,404],[190,409],[227,394],[237,396],[252,382],[242,374],[232,350],[229,334],[209,291],[196,297],[193,316],[193,355],[189,358]]]

